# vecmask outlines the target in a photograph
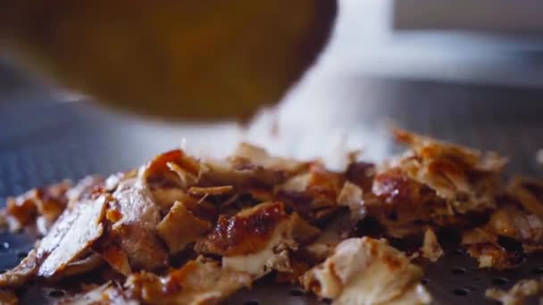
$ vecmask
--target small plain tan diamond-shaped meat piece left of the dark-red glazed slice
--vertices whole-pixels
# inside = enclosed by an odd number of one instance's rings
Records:
[[[210,222],[197,218],[181,202],[175,202],[170,212],[156,226],[158,235],[168,244],[171,253],[195,243],[211,229]]]

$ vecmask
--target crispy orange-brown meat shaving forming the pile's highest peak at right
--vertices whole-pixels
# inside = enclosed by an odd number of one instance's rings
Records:
[[[505,159],[403,130],[396,130],[395,136],[413,151],[393,162],[392,167],[429,186],[455,213],[496,207],[497,173],[505,166]]]

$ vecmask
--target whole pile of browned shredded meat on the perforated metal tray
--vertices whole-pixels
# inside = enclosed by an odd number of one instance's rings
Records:
[[[506,183],[496,153],[394,134],[407,152],[350,155],[343,171],[241,144],[226,160],[174,150],[10,198],[4,227],[42,238],[0,275],[0,302],[37,284],[69,290],[62,304],[208,304],[265,276],[334,304],[427,304],[440,232],[454,229],[480,268],[543,250],[543,181]]]

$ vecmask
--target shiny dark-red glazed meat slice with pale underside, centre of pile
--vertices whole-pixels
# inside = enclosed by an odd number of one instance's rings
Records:
[[[222,256],[222,266],[258,278],[279,270],[292,272],[289,252],[319,234],[297,214],[287,215],[282,203],[261,203],[231,218],[196,243],[196,251]]]

